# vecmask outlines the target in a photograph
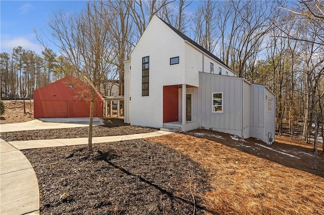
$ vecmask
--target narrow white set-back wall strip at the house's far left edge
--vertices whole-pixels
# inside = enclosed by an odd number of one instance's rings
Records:
[[[125,112],[124,122],[131,123],[131,71],[129,70],[131,61],[124,62],[124,101]]]

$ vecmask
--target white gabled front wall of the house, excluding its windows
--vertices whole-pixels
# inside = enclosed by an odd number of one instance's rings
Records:
[[[131,124],[163,127],[163,86],[185,83],[184,41],[153,17],[131,55]],[[149,56],[149,96],[142,96],[142,58]],[[170,58],[179,56],[179,64]]]

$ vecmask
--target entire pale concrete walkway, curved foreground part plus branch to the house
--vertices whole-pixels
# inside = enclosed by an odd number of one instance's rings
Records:
[[[4,132],[4,131],[2,131]],[[144,134],[93,137],[105,143],[172,134],[156,131]],[[88,138],[9,141],[0,139],[0,214],[39,214],[38,182],[22,149],[88,144]]]

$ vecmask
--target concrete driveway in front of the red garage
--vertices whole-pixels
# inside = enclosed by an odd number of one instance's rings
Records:
[[[100,118],[93,119],[93,125],[103,125]],[[25,123],[0,125],[0,132],[27,131],[38,129],[75,128],[89,126],[89,117],[84,118],[41,118]]]

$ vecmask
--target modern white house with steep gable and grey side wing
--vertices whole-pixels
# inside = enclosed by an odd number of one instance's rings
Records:
[[[125,122],[274,141],[274,94],[154,16],[125,62]],[[272,137],[272,138],[270,138]]]

